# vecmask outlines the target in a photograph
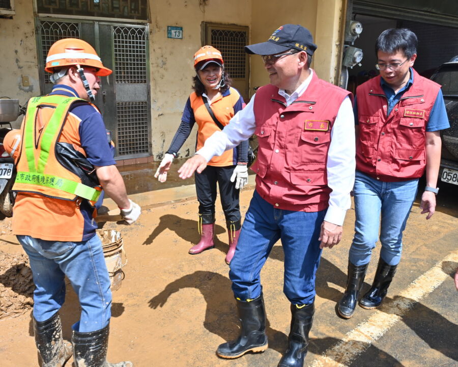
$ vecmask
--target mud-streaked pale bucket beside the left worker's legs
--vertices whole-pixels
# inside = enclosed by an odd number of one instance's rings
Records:
[[[122,268],[127,264],[123,238],[121,232],[114,229],[98,230],[97,233],[102,241],[103,256],[110,277],[110,287],[112,291],[116,291],[121,287],[124,279]]]

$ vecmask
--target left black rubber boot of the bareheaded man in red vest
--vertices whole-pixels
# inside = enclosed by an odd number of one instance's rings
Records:
[[[348,261],[347,289],[337,304],[337,311],[342,318],[350,319],[355,312],[367,265],[355,266]]]

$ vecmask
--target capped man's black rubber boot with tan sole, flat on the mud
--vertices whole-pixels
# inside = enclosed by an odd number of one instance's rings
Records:
[[[241,332],[237,339],[218,347],[216,354],[222,358],[238,358],[250,351],[264,352],[268,347],[263,294],[249,302],[237,299],[236,302]]]

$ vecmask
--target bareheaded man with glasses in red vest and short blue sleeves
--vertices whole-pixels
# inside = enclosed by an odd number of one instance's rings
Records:
[[[416,47],[417,37],[408,29],[382,32],[376,43],[380,75],[356,90],[355,237],[349,253],[347,290],[337,305],[340,316],[347,319],[355,311],[380,225],[378,268],[359,305],[375,308],[386,296],[400,260],[418,178],[425,170],[421,213],[430,219],[435,211],[440,130],[449,123],[441,86],[413,69]]]

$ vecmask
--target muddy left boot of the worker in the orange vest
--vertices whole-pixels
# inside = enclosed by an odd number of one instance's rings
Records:
[[[43,322],[34,319],[34,334],[40,367],[62,367],[72,356],[71,344],[62,338],[59,312]]]

